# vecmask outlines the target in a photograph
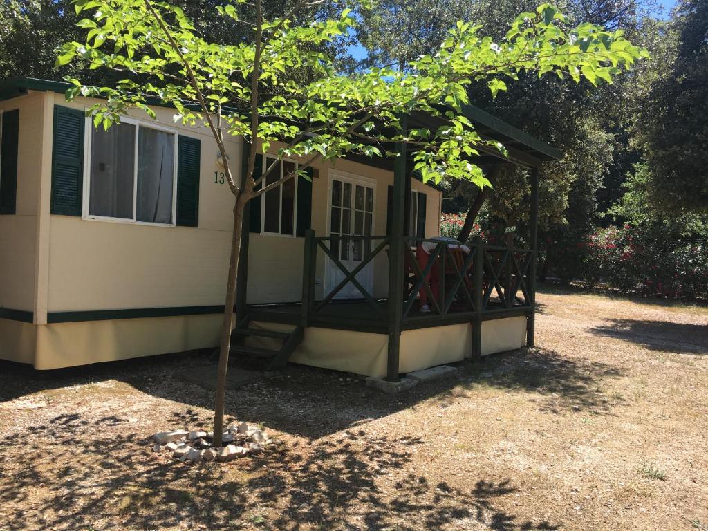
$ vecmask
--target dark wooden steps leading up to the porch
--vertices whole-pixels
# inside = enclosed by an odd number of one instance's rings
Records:
[[[262,312],[261,312],[262,313]],[[254,321],[253,314],[246,314],[244,319],[241,319],[239,324],[231,333],[231,350],[230,354],[239,357],[261,358],[265,361],[265,370],[280,370],[287,364],[287,360],[295,352],[295,348],[300,344],[304,337],[304,328],[295,325],[292,331],[278,332],[273,330],[253,329],[249,326],[251,321]],[[282,322],[281,319],[263,319],[263,315],[258,315],[258,321]],[[290,324],[287,322],[285,324]],[[256,346],[245,345],[246,338],[268,338],[273,339],[277,343],[280,342],[278,348],[262,348]]]

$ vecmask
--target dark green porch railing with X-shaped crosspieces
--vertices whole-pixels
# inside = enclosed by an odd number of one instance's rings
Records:
[[[342,263],[338,253],[341,244],[350,241],[360,245],[362,252],[362,261],[351,270]],[[304,324],[324,314],[326,307],[349,284],[368,303],[371,313],[367,314],[367,319],[387,321],[389,315],[382,302],[389,297],[375,297],[376,294],[362,285],[357,275],[377,256],[388,254],[390,244],[388,236],[315,237],[314,232],[309,231],[305,238],[302,284]],[[529,275],[533,253],[528,249],[481,243],[461,246],[455,241],[409,236],[402,238],[402,244],[403,323],[415,321],[425,326],[425,322],[430,321],[430,326],[437,326],[447,319],[471,321],[482,314],[508,314],[512,310],[518,312],[531,307],[532,283]],[[424,251],[424,247],[429,253]],[[324,253],[326,260],[342,273],[342,279],[321,300],[315,300],[318,253]],[[421,299],[427,300],[429,312],[421,312]]]

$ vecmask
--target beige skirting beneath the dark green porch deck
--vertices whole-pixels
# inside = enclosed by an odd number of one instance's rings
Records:
[[[290,331],[292,326],[254,322],[251,326],[273,331]],[[249,337],[247,343],[262,348],[278,348],[270,338]],[[526,318],[510,317],[482,323],[482,355],[521,348],[526,343]],[[358,375],[386,375],[388,336],[310,327],[290,360],[324,369]],[[400,371],[435,367],[462,361],[472,353],[472,326],[454,324],[401,333]]]

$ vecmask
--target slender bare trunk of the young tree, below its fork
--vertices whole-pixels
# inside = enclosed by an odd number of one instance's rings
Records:
[[[219,368],[217,371],[217,389],[214,400],[214,447],[222,445],[224,433],[224,398],[226,396],[226,372],[229,366],[229,349],[231,348],[231,333],[234,321],[234,303],[236,302],[236,273],[239,270],[241,258],[241,230],[244,224],[244,195],[236,195],[234,205],[234,232],[231,241],[231,256],[229,258],[229,280],[226,287],[226,302],[224,302],[224,322],[222,324],[221,346],[219,347]]]

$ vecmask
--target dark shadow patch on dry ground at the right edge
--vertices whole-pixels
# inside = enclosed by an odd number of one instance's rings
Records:
[[[610,319],[590,329],[600,336],[666,352],[708,354],[708,323],[690,324],[641,319]]]

